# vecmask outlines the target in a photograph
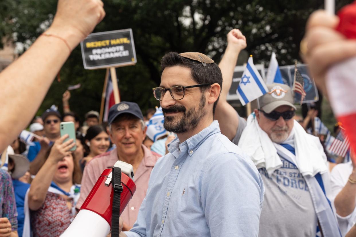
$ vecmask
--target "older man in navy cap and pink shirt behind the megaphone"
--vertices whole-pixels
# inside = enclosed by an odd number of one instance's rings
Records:
[[[145,198],[153,166],[161,156],[142,144],[146,137],[146,126],[138,104],[126,101],[115,104],[109,110],[108,122],[110,139],[116,148],[87,163],[76,208],[82,206],[104,169],[111,168],[118,160],[129,163],[133,166],[137,189],[121,217],[125,220],[124,230],[130,230]]]

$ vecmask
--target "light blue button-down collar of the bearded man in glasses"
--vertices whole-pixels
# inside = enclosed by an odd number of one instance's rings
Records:
[[[180,144],[178,137],[168,144],[168,151],[173,153],[178,147],[180,150],[185,146],[188,146],[188,155],[192,156],[199,148],[199,146],[211,135],[220,133],[220,127],[218,120],[214,120],[207,128],[201,130],[198,134],[188,138],[186,141]]]

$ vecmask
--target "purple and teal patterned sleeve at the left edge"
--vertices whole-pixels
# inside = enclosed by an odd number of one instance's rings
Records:
[[[3,169],[0,169],[0,204],[0,217],[7,217],[11,223],[12,231],[17,231],[14,187],[12,187],[10,174]]]

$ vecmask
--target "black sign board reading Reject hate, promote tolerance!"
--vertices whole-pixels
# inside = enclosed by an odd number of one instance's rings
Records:
[[[89,34],[80,47],[85,69],[127,66],[137,62],[132,29]]]

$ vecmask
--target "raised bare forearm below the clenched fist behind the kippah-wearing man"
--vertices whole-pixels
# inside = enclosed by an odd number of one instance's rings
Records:
[[[234,75],[234,69],[239,53],[240,49],[228,44],[225,54],[219,63],[219,68],[223,74],[223,87],[221,88],[220,99],[226,100],[227,93],[232,84],[232,76]]]

